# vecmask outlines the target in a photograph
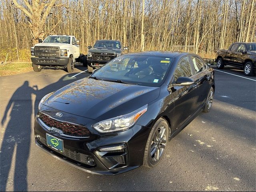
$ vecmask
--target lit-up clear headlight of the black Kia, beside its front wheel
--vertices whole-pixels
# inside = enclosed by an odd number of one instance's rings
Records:
[[[93,125],[100,133],[125,130],[133,126],[136,121],[147,111],[148,104],[126,115],[104,120]]]

